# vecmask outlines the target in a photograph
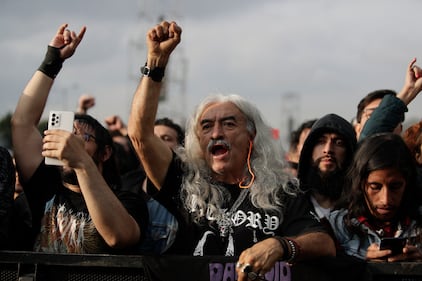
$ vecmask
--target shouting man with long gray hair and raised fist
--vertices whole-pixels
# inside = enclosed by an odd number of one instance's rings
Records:
[[[165,21],[148,31],[128,123],[155,198],[179,222],[169,253],[239,256],[238,280],[265,274],[279,260],[333,256],[333,240],[283,172],[281,144],[251,103],[238,95],[205,99],[188,123],[185,148],[175,152],[154,135],[162,78],[181,32]]]

